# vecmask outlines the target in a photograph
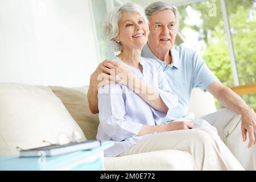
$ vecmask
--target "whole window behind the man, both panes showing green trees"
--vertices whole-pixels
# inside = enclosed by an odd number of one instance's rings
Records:
[[[226,86],[256,80],[256,3],[251,0],[224,1],[228,22],[223,18],[221,0],[208,0],[178,6],[183,46],[197,49],[208,67]],[[225,26],[230,27],[230,41]],[[177,44],[178,41],[176,42]],[[228,47],[231,45],[230,50]],[[230,55],[234,52],[234,59]],[[236,71],[232,69],[232,61]],[[256,103],[256,94],[242,96],[247,104]],[[221,105],[216,102],[217,107]]]

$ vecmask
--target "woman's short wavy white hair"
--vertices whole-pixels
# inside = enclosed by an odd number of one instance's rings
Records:
[[[122,44],[117,42],[119,34],[118,23],[123,13],[138,13],[142,16],[144,23],[148,28],[147,16],[145,15],[143,8],[135,3],[125,3],[125,5],[116,7],[110,11],[104,22],[103,34],[105,39],[113,46],[114,51],[122,51],[123,49]]]

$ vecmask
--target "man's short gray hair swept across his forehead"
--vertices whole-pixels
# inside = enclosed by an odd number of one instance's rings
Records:
[[[145,9],[146,16],[148,20],[150,19],[150,16],[158,13],[159,11],[163,10],[172,10],[174,11],[175,19],[176,19],[176,26],[177,28],[179,27],[179,11],[175,6],[168,5],[167,3],[164,2],[154,2],[148,5]]]

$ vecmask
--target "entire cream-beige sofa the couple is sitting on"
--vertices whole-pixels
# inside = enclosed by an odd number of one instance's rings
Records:
[[[32,86],[0,83],[0,156],[17,154],[16,147],[31,148],[57,143],[60,133],[79,131],[95,139],[98,115],[90,113],[88,86]],[[216,110],[213,97],[193,90],[189,105],[196,117]],[[193,170],[190,154],[178,150],[146,152],[104,158],[106,170]]]

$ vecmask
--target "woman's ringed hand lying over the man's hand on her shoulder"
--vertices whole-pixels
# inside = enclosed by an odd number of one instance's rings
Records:
[[[110,80],[123,85],[128,85],[129,79],[134,75],[129,68],[119,62],[106,61],[101,66],[102,71],[110,75]]]

